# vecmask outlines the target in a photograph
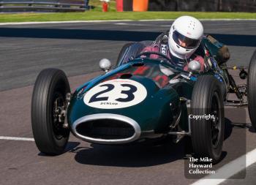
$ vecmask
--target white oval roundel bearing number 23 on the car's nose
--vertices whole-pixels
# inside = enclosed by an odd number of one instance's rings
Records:
[[[135,80],[115,79],[91,88],[83,97],[83,102],[90,107],[115,109],[136,105],[146,96],[146,88]]]

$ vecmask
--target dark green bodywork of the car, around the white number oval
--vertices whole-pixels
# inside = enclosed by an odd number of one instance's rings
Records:
[[[168,69],[171,74],[166,75],[162,69]],[[192,75],[165,60],[136,58],[76,89],[67,110],[67,121],[72,128],[72,124],[83,116],[97,113],[118,114],[135,120],[140,126],[142,135],[143,132],[157,134],[169,132],[170,126],[175,124],[181,109],[184,109],[186,111],[183,111],[179,125],[187,131],[187,116],[184,115],[187,113],[187,107],[181,100],[191,99],[193,86],[200,75],[214,75],[223,84],[223,91],[225,91],[225,79],[219,77],[221,73],[223,73],[221,69],[208,69],[202,74]],[[178,83],[171,83],[177,76]],[[221,74],[221,76],[225,75]],[[97,84],[126,77],[146,88],[146,99],[137,105],[117,109],[99,109],[89,107],[83,101],[84,95]]]

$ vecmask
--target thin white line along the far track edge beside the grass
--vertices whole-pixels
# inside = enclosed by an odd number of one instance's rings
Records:
[[[173,21],[174,19],[156,19],[156,20],[69,20],[69,21],[40,21],[40,22],[18,22],[18,23],[0,23],[0,26],[2,25],[23,25],[23,24],[45,24],[45,23],[108,23],[108,22],[122,22],[122,21]],[[212,21],[217,21],[217,20],[256,20],[256,19],[199,19],[199,20],[212,20]]]

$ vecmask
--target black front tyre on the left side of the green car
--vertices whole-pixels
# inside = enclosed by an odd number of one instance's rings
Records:
[[[44,69],[37,76],[31,102],[31,124],[39,151],[48,155],[64,152],[69,129],[59,121],[54,110],[65,106],[70,92],[67,76],[59,69]]]

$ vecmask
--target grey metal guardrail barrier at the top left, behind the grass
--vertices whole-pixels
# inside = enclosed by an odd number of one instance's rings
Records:
[[[83,12],[85,0],[0,0],[0,12]]]

